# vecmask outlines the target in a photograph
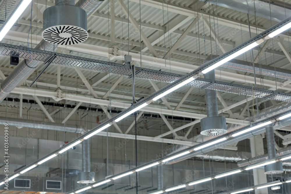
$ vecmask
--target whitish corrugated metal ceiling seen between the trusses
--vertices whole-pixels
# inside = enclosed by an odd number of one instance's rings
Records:
[[[36,1],[37,2],[37,1]],[[42,3],[45,1],[42,1]],[[175,3],[177,5],[180,6],[191,6],[193,5],[193,1],[191,0],[187,0],[187,1],[178,1],[178,0],[173,0],[173,1],[168,1],[170,3]],[[47,3],[53,3],[53,1],[47,1]],[[102,3],[102,5],[97,9],[96,13],[103,13],[104,16],[107,17],[108,15],[108,2],[104,1],[104,3]],[[127,6],[127,1],[124,1],[125,5]],[[287,1],[286,1],[287,3]],[[196,4],[194,4],[194,8],[195,8]],[[207,6],[208,7],[208,6]],[[41,12],[43,12],[45,10],[45,5],[41,5],[38,3],[38,8],[40,9]],[[139,13],[139,9],[141,9],[141,22],[144,23],[148,23],[148,24],[154,24],[160,27],[163,27],[163,23],[165,23],[165,27],[167,28],[167,23],[169,21],[169,23],[171,24],[171,21],[173,18],[175,17],[179,17],[180,15],[176,14],[176,13],[172,13],[172,12],[168,12],[167,11],[167,7],[164,6],[164,22],[163,22],[163,12],[162,9],[158,9],[158,8],[153,8],[151,6],[146,6],[146,5],[139,5],[138,3],[134,3],[132,1],[129,1],[129,11],[131,12],[131,14],[134,16],[134,18],[136,19],[136,21],[140,20],[140,13]],[[223,16],[223,17],[227,17],[230,19],[235,19],[238,21],[242,21],[242,22],[248,22],[247,21],[247,15],[245,13],[240,13],[234,10],[230,10],[228,8],[223,8],[223,7],[219,7],[219,6],[213,6],[214,9],[214,14],[218,13],[218,15]],[[205,10],[205,12],[208,12],[209,8],[207,8]],[[212,10],[212,5],[210,5],[210,13],[213,12]],[[30,21],[30,14],[31,14],[31,9],[28,7],[25,12],[22,14],[21,19],[25,19]],[[120,6],[118,5],[117,2],[115,2],[115,16],[116,17],[123,17],[124,18],[124,23],[123,22],[115,22],[115,37],[116,38],[120,38],[120,39],[125,39],[128,40],[128,24],[127,24],[127,17],[124,14],[124,11],[120,8]],[[36,22],[37,20],[37,15],[32,12],[32,21]],[[39,18],[39,17],[38,17]],[[109,17],[110,18],[110,17]],[[209,16],[205,13],[204,18],[203,19],[209,19]],[[191,20],[192,21],[192,20]],[[182,25],[179,30],[180,31],[184,31],[188,25],[190,24],[190,22],[187,22],[186,24]],[[40,22],[40,20],[38,19],[38,22]],[[257,18],[257,22],[259,26],[264,26],[264,27],[269,27],[268,25],[270,25],[269,20],[264,19],[264,18]],[[219,37],[222,40],[228,40],[233,42],[235,45],[239,45],[240,43],[248,40],[250,38],[250,34],[247,31],[241,31],[239,30],[235,35],[232,35],[231,32],[234,31],[234,28],[231,27],[227,27],[227,26],[223,26],[223,25],[218,25],[217,26],[217,20],[211,20],[210,21],[211,25],[213,28],[215,28],[216,32],[218,32]],[[251,24],[255,24],[255,19],[253,16],[250,16],[250,23]],[[110,25],[110,21],[109,21],[109,25]],[[17,32],[23,32],[23,33],[28,33],[29,32],[29,28],[30,26],[28,25],[21,25],[20,27],[13,27],[12,30],[17,31]],[[110,29],[110,26],[109,26]],[[144,26],[142,26],[142,31],[145,33],[146,36],[148,36],[149,39],[151,39],[151,36],[153,33],[155,33],[155,29],[151,29],[151,28],[146,28]],[[203,21],[199,20],[199,26],[198,24],[196,24],[196,26],[191,30],[191,33],[198,33],[198,29],[199,29],[199,34],[200,35],[204,35],[207,37],[210,37],[210,32],[207,30],[206,27],[204,27],[204,31],[203,31]],[[108,36],[108,19],[106,18],[100,18],[100,17],[93,17],[91,16],[88,19],[88,30],[90,30],[91,33],[94,34],[98,34],[98,35],[104,35],[104,36]],[[134,31],[134,27],[132,26],[132,24],[130,24],[129,22],[129,31],[132,32]],[[39,28],[36,27],[32,27],[32,33],[35,35],[41,35],[42,32],[42,25],[41,23],[39,23]],[[159,35],[162,36],[163,35],[163,31],[160,30]],[[254,36],[255,34],[252,33],[252,36]],[[160,47],[164,47],[166,46],[166,48],[168,49],[171,45],[174,44],[174,42],[171,40],[177,40],[177,37],[179,37],[180,35],[176,34],[176,33],[171,33],[170,37],[166,37],[165,38],[165,44],[164,44],[164,39],[162,38],[157,44],[156,46],[160,46]],[[129,40],[130,41],[135,41],[135,42],[140,42],[140,35],[139,33],[136,33],[135,35],[133,35],[132,33],[129,34]],[[5,43],[10,43],[13,45],[27,45],[27,42],[25,42],[26,40],[24,40],[23,42],[17,42],[17,41],[13,41],[13,40],[3,40],[3,42]],[[200,42],[200,44],[199,44]],[[32,45],[31,45],[32,43]],[[38,43],[36,42],[36,40],[32,40],[29,41],[29,46],[30,47],[34,47],[35,44]],[[94,39],[94,38],[88,38],[88,40],[86,40],[87,44],[91,44],[91,45],[98,45],[98,46],[103,46],[103,47],[108,47],[108,41],[106,40],[98,40],[98,39]],[[287,48],[289,48],[289,43],[287,41],[284,41],[284,44]],[[143,44],[144,46],[144,44]],[[211,47],[212,46],[212,47]],[[129,46],[130,51],[132,52],[136,52],[139,53],[140,51],[140,47],[134,47],[134,46]],[[233,48],[232,45],[225,45],[225,47],[230,50]],[[262,47],[262,45],[260,45],[260,47]],[[212,48],[212,49],[211,49]],[[127,44],[123,45],[123,48],[119,48],[119,49],[123,49],[125,51],[128,50],[128,46]],[[195,57],[191,57],[191,53],[193,54],[201,54],[201,57],[204,58],[205,57],[205,50],[206,50],[206,55],[209,56],[211,54],[217,54],[216,49],[218,49],[218,54],[222,54],[222,51],[216,47],[215,42],[211,42],[206,40],[205,42],[205,47],[204,47],[204,41],[203,39],[197,39],[197,38],[193,38],[190,36],[187,36],[186,38],[184,38],[184,40],[181,42],[181,44],[178,47],[179,51],[185,51],[188,52],[190,56],[184,56],[184,55],[180,55],[180,54],[173,54],[171,56],[171,60],[175,60],[178,62],[183,62],[183,63],[188,63],[188,64],[195,64],[197,65],[197,63],[199,64],[200,62],[203,62],[203,59],[199,59],[199,58],[195,58]],[[273,49],[272,48],[268,48],[268,49]],[[275,51],[279,51],[283,54],[282,50],[280,49],[280,47],[278,46],[278,44],[274,43],[274,50]],[[58,52],[65,52],[65,49],[58,49]],[[68,51],[67,51],[68,52]],[[149,51],[146,51],[148,54],[147,55],[151,55]],[[164,55],[164,51],[157,51],[159,55],[161,55],[161,57],[163,57]],[[68,52],[69,53],[69,52]],[[82,57],[87,57],[87,58],[94,58],[94,59],[99,59],[99,60],[108,60],[104,57],[99,57],[99,56],[95,56],[95,55],[91,55],[91,54],[84,54],[84,53],[77,53],[77,52],[71,52],[71,55],[78,55],[78,56],[82,56]],[[125,54],[127,54],[125,52]],[[146,53],[143,53],[146,54]],[[256,56],[258,54],[257,51],[253,51],[253,55]],[[3,71],[3,73],[5,75],[10,74],[11,72],[11,68],[14,68],[14,66],[9,65],[9,58],[8,57],[1,57],[2,58],[2,65],[1,65],[1,69]],[[251,61],[252,59],[252,55],[251,52],[247,52],[246,54],[239,56],[238,59],[241,60],[248,60]],[[278,56],[275,55],[275,60],[276,60],[276,67],[282,67],[284,66],[284,68],[286,69],[290,69],[290,65],[289,61],[287,60],[287,58],[285,56]],[[115,60],[114,60],[115,61]],[[266,63],[267,61],[267,63]],[[121,63],[122,61],[116,61]],[[261,63],[263,65],[273,65],[274,64],[274,56],[271,53],[268,53],[266,55],[262,56],[262,60]],[[140,64],[136,64],[137,66],[140,66]],[[145,66],[146,64],[143,63],[143,67],[147,67]],[[150,67],[152,69],[156,69],[159,70],[160,67]],[[40,71],[42,69],[42,67],[38,68],[38,71]],[[9,71],[8,71],[9,70]],[[163,71],[170,71],[168,69],[162,69]],[[229,71],[229,72],[235,72],[233,70],[227,70],[227,69],[221,69],[222,71]],[[70,68],[70,67],[62,67],[61,72],[63,75],[66,75],[68,77],[71,78],[77,78],[77,72],[74,70],[74,68]],[[88,70],[82,70],[83,74],[85,75],[85,77],[88,77],[89,75],[95,75],[95,74],[99,74],[99,72],[90,72]],[[181,74],[186,74],[185,72],[177,72],[177,71],[172,71],[175,73],[181,73]],[[46,74],[53,74],[56,75],[57,73],[57,68],[56,65],[50,65],[47,70],[45,71]],[[41,76],[40,80],[45,80],[46,83],[55,83],[56,80],[54,78],[49,78],[46,76],[46,74],[43,74]],[[102,73],[104,76],[106,74]],[[31,76],[31,79],[35,76],[35,74],[33,74]],[[251,75],[252,76],[252,75]],[[110,83],[111,86],[113,85],[113,83],[118,79],[118,75],[112,75],[110,76]],[[273,77],[265,77],[266,79],[269,80],[275,80]],[[77,81],[68,81],[67,83],[62,83],[62,84],[67,84],[68,86],[77,86],[81,84],[81,79],[76,79]],[[278,79],[279,80],[279,79]],[[131,86],[132,82],[131,79],[128,79],[127,77],[124,77],[123,80],[120,82],[120,85],[124,85],[124,86]],[[221,81],[226,81],[226,82],[231,82],[229,80],[224,80],[221,79]],[[282,81],[282,80],[279,80]],[[109,78],[105,79],[103,81],[104,83],[109,83]],[[166,83],[158,83],[156,82],[157,85],[159,86],[159,88],[163,87],[166,85]],[[234,83],[239,83],[239,84],[245,84],[242,82],[234,82]],[[246,83],[245,85],[249,85],[248,83]],[[252,85],[250,85],[252,86]],[[98,88],[104,88],[104,89],[109,89],[109,84],[107,86],[97,86]],[[149,81],[145,81],[143,79],[136,79],[136,87],[137,88],[146,88],[146,89],[151,89],[151,91],[153,92],[154,90],[152,89],[152,86],[150,84]],[[85,88],[85,87],[84,87]],[[117,87],[118,89],[118,87]],[[184,94],[187,92],[187,90],[189,89],[189,87],[183,87],[179,90],[179,93]],[[104,90],[106,91],[106,90]],[[130,95],[130,94],[128,94]],[[196,99],[196,101],[204,101],[204,91],[203,90],[199,90],[198,88],[195,88],[194,90],[192,90],[191,95],[198,95],[201,96],[200,99]],[[223,93],[223,99],[226,101],[230,101],[230,102],[239,102],[243,99],[245,99],[244,96],[238,96],[235,94],[230,94],[230,93]],[[181,97],[177,97],[178,99],[182,98]],[[195,100],[195,99],[191,99],[191,97],[187,98],[187,100]]]

